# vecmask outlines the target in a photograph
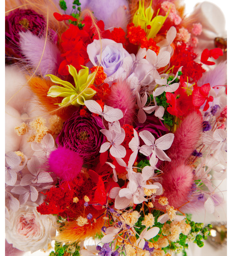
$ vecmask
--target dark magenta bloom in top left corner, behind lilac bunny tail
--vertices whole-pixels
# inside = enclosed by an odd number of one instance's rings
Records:
[[[22,57],[19,49],[19,32],[31,31],[36,36],[46,30],[44,17],[30,9],[16,9],[5,17],[5,47],[11,54]]]

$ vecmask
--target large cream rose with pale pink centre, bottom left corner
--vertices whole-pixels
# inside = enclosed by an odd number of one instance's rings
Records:
[[[51,238],[56,235],[57,218],[53,215],[41,215],[35,203],[24,205],[17,212],[9,211],[10,225],[5,227],[9,244],[21,251],[34,253],[47,249]]]

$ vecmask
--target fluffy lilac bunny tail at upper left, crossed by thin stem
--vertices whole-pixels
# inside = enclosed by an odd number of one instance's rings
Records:
[[[45,41],[45,38],[39,38],[29,31],[20,33],[20,49],[29,64],[34,70],[38,67],[37,71],[42,76],[46,74],[55,75],[61,62],[61,53],[56,45],[49,42],[49,40],[46,41],[44,48]]]

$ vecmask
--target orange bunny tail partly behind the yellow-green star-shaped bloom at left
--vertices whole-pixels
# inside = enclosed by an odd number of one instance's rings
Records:
[[[61,119],[67,120],[77,110],[75,106],[59,107],[55,105],[62,101],[63,98],[61,97],[52,98],[47,96],[49,88],[54,85],[53,82],[36,76],[32,77],[28,84],[48,114],[56,114]]]

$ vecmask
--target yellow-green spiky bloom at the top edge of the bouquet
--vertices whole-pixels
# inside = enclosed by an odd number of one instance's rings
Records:
[[[154,10],[152,9],[152,0],[149,7],[147,7],[146,9],[144,9],[144,0],[142,0],[142,3],[140,0],[138,10],[133,17],[133,23],[135,24],[135,26],[141,26],[141,28],[145,30],[148,39],[154,38],[156,36],[160,28],[163,26],[165,20],[167,19],[169,12],[166,16],[158,16],[158,10],[156,16],[152,19],[153,14]],[[147,28],[148,25],[151,26],[150,29]]]

